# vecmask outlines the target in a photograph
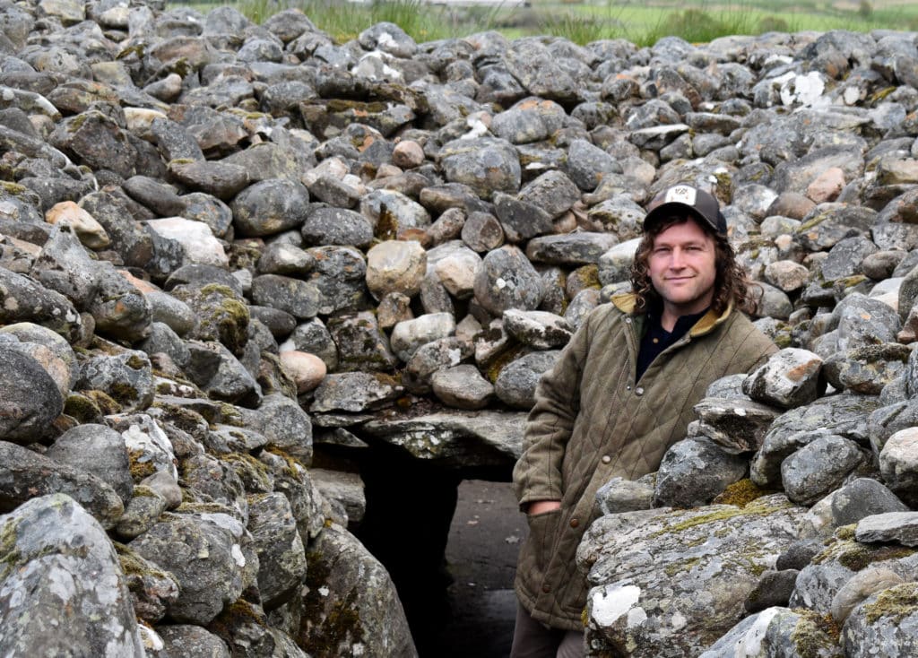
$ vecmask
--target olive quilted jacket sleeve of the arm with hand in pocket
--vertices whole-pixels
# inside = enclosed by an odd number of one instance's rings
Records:
[[[536,500],[560,500],[564,494],[561,465],[580,407],[580,379],[596,315],[590,314],[577,329],[536,386],[522,454],[513,469],[513,487],[521,507]]]

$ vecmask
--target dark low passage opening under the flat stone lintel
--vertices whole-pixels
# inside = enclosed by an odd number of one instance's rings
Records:
[[[505,658],[525,531],[509,472],[460,474],[375,447],[361,476],[356,534],[392,576],[420,658]]]

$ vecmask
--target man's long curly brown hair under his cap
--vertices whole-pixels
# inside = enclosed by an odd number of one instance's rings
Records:
[[[711,309],[720,314],[730,307],[731,302],[733,302],[734,307],[746,313],[755,314],[758,300],[763,292],[761,286],[752,281],[743,267],[736,262],[736,254],[726,236],[717,234],[705,222],[697,221],[695,217],[689,215],[667,217],[644,233],[644,239],[638,245],[631,268],[632,289],[637,297],[636,308],[644,310],[651,302],[660,301],[660,295],[656,292],[650,279],[649,264],[650,252],[653,251],[656,236],[674,225],[689,221],[689,219],[695,221],[714,240],[714,266],[716,273]],[[757,291],[757,294],[754,291]]]

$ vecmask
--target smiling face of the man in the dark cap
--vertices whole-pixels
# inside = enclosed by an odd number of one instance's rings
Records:
[[[714,239],[693,220],[674,224],[654,240],[650,280],[663,298],[664,318],[700,313],[714,296]]]

